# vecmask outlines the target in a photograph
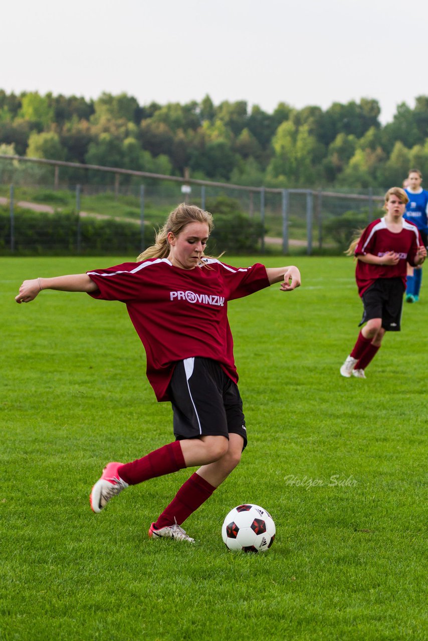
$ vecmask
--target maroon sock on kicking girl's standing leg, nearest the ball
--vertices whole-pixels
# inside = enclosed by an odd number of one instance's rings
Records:
[[[202,503],[209,499],[215,489],[214,486],[195,472],[180,487],[174,499],[158,517],[155,528],[165,528],[175,522],[181,525]]]

